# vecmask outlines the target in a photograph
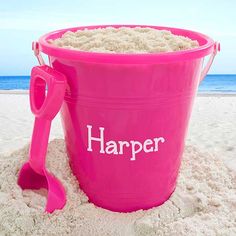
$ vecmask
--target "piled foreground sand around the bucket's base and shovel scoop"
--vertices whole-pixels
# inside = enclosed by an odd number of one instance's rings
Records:
[[[62,211],[44,213],[45,197],[21,191],[17,173],[28,148],[2,158],[0,232],[4,235],[233,235],[236,234],[236,175],[218,158],[185,149],[175,193],[161,207],[129,214],[88,203],[71,174],[63,140],[50,144],[48,168],[63,182]]]

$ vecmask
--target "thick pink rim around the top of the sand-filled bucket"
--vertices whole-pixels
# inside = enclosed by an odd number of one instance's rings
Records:
[[[175,52],[159,52],[159,53],[104,53],[104,52],[88,52],[74,49],[67,49],[57,47],[48,42],[49,39],[56,39],[61,37],[67,31],[77,31],[83,29],[96,29],[106,27],[150,27],[157,30],[169,30],[171,33],[189,37],[192,40],[197,40],[199,47]],[[87,61],[97,63],[116,63],[116,64],[150,64],[150,63],[170,63],[174,61],[191,60],[196,58],[203,58],[214,51],[214,40],[209,36],[182,28],[173,28],[165,26],[154,25],[123,25],[123,24],[109,24],[109,25],[90,25],[78,26],[72,28],[65,28],[55,30],[44,34],[39,38],[39,50],[48,56],[72,60],[72,61]]]

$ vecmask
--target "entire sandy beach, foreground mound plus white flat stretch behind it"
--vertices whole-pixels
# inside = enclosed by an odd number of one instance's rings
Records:
[[[26,95],[0,94],[0,108],[0,150],[7,153],[29,141],[33,117]],[[222,162],[236,171],[235,120],[236,97],[197,97],[175,193],[161,207],[129,214],[87,202],[62,140],[50,144],[48,167],[66,187],[68,202],[52,215],[43,213],[45,197],[16,185],[27,148],[2,154],[0,235],[236,235],[236,176]],[[62,137],[58,119],[52,137]]]

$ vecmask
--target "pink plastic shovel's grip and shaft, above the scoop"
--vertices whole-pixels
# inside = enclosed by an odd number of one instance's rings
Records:
[[[47,94],[46,94],[47,87]],[[35,115],[30,146],[30,165],[39,174],[45,171],[45,158],[51,121],[61,108],[66,78],[49,66],[36,66],[31,71],[30,107]]]

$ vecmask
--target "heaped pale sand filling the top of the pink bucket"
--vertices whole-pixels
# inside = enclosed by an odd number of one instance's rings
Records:
[[[49,42],[63,48],[107,53],[174,52],[199,46],[196,40],[149,27],[67,31],[61,38]]]

